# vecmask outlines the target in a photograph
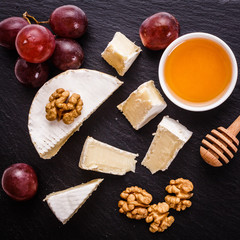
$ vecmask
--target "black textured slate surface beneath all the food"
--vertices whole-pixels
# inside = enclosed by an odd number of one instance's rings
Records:
[[[162,51],[145,49],[138,35],[146,17],[167,11],[178,19],[181,35],[194,31],[215,34],[229,44],[239,62],[240,1],[1,0],[0,21],[21,16],[25,11],[39,20],[47,20],[56,7],[64,4],[81,7],[89,20],[87,33],[79,39],[85,52],[82,67],[117,76],[100,55],[116,31],[135,41],[143,52],[126,75],[119,77],[124,85],[84,122],[80,132],[53,159],[43,160],[34,149],[27,128],[29,107],[37,89],[26,88],[16,80],[17,54],[0,47],[0,175],[9,165],[24,162],[34,167],[39,179],[37,195],[28,202],[15,202],[0,188],[0,239],[240,239],[240,154],[222,168],[208,166],[199,155],[200,142],[206,133],[220,125],[229,126],[240,114],[240,82],[224,104],[209,112],[182,110],[165,97],[168,107],[139,131],[116,108],[147,80],[153,79],[160,89],[157,69]],[[52,76],[57,73],[52,69]],[[164,115],[179,119],[194,134],[167,171],[152,175],[140,163]],[[88,135],[139,153],[136,173],[112,176],[79,169],[79,156]],[[66,225],[42,202],[53,191],[99,177],[105,180]],[[164,200],[169,180],[178,177],[194,183],[193,205],[180,213],[171,210],[175,222],[164,233],[152,234],[143,220],[130,220],[118,213],[119,194],[126,187],[145,188],[153,195],[153,203],[157,203]]]

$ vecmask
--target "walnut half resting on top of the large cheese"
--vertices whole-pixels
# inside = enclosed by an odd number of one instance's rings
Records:
[[[83,102],[79,94],[70,93],[63,88],[58,88],[50,97],[46,105],[46,119],[49,121],[61,119],[65,124],[71,124],[74,118],[81,114]],[[68,99],[68,102],[67,102]]]

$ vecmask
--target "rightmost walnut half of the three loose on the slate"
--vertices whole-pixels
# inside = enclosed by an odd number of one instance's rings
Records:
[[[183,178],[178,178],[176,180],[171,180],[170,185],[166,187],[166,191],[173,195],[167,195],[165,197],[165,202],[177,211],[185,210],[191,207],[192,202],[189,200],[193,193],[193,184],[191,181]]]

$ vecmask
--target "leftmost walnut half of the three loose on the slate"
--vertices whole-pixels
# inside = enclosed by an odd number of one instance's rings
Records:
[[[120,197],[126,200],[118,202],[120,213],[137,220],[147,217],[147,207],[152,201],[152,195],[146,190],[137,186],[129,187],[120,194]]]

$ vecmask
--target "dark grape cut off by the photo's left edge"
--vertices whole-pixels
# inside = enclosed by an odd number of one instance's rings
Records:
[[[10,17],[6,18],[0,22],[0,46],[14,49],[15,39],[18,32],[25,26],[28,22],[20,17]]]

